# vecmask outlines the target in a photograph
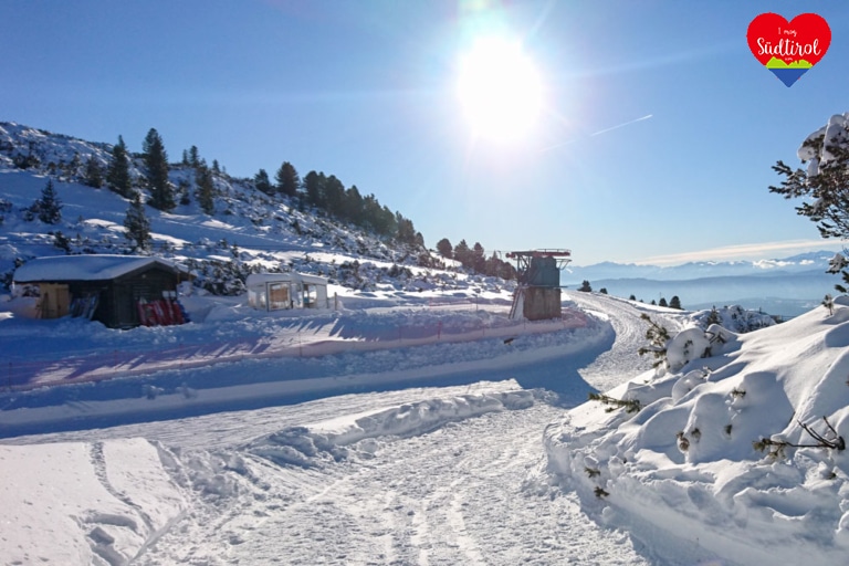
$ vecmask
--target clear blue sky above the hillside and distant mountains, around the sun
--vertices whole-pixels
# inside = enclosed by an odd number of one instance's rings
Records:
[[[789,88],[748,50],[762,12],[830,24],[828,53]],[[196,145],[240,177],[284,160],[333,174],[430,247],[569,248],[577,264],[824,248],[767,187],[777,159],[796,165],[801,140],[849,111],[846,2],[32,0],[0,13],[0,120],[120,134],[133,150],[155,127],[172,160]],[[459,104],[480,34],[521,40],[544,84],[520,142],[475,138]]]

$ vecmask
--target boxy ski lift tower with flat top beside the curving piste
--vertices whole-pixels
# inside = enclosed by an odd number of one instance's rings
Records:
[[[560,317],[560,270],[572,261],[570,250],[507,252],[516,260],[518,286],[511,318],[544,321]]]

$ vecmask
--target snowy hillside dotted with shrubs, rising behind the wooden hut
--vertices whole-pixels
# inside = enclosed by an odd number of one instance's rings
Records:
[[[126,253],[132,249],[124,235],[129,201],[106,188],[84,185],[87,160],[105,167],[111,150],[107,144],[0,123],[1,283],[9,283],[17,264],[34,256]],[[146,195],[143,171],[140,158],[130,159],[134,187]],[[195,175],[193,167],[170,166],[175,186],[195,187]],[[48,179],[53,180],[63,205],[56,224],[27,214]],[[444,286],[457,280],[457,275],[433,279],[417,270],[420,263],[434,263],[422,249],[298,210],[286,197],[272,198],[256,190],[249,179],[219,172],[213,181],[216,210],[211,216],[193,198],[168,213],[146,207],[151,252],[187,263],[199,276],[198,283],[208,283],[208,289],[238,293],[242,287],[237,280],[256,270],[296,270],[331,276],[348,286],[370,285],[371,290],[381,279],[410,289]]]

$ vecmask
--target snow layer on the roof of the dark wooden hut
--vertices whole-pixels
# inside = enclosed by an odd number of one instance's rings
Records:
[[[28,261],[14,271],[13,280],[15,283],[106,281],[155,264],[175,272],[186,271],[171,261],[144,255],[56,255]]]

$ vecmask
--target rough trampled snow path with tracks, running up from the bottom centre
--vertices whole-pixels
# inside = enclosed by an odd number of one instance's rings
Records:
[[[560,416],[544,402],[488,412],[316,468],[233,454],[230,495],[201,497],[137,564],[646,564],[574,494],[527,488]]]

